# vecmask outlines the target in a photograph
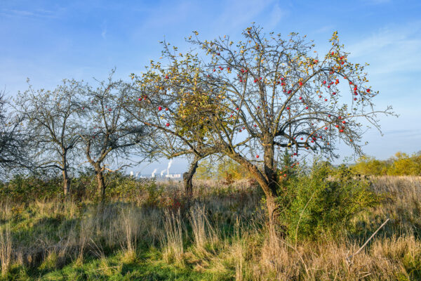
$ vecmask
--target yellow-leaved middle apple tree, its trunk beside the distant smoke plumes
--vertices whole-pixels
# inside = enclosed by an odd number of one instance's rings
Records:
[[[203,83],[197,55],[175,55],[177,51],[163,42],[163,56],[168,58],[168,65],[162,67],[152,60],[141,77],[133,74],[138,93],[131,98],[128,111],[138,122],[154,129],[153,140],[159,148],[155,155],[191,158],[189,170],[183,175],[186,195],[191,195],[192,178],[199,161],[218,153],[218,147],[209,140],[212,137],[209,123],[216,115],[225,118],[228,104],[222,101],[222,89]],[[142,110],[148,112],[146,119],[140,113]]]

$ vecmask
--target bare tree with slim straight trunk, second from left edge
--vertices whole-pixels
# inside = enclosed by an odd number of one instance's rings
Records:
[[[25,122],[30,139],[29,155],[32,169],[59,170],[63,177],[63,192],[70,192],[69,169],[79,142],[77,124],[81,117],[80,103],[83,85],[63,80],[53,91],[35,91],[29,85],[15,98],[15,110]]]

